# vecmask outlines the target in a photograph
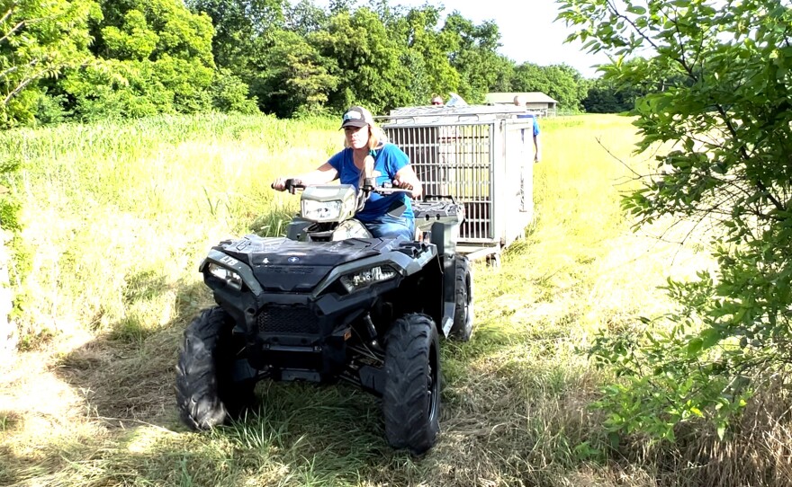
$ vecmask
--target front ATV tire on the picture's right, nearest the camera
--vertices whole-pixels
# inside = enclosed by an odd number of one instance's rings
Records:
[[[385,437],[394,448],[422,455],[440,430],[440,354],[437,326],[425,314],[406,314],[385,335]]]

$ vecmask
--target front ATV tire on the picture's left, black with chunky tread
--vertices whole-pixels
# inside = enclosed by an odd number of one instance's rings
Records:
[[[176,403],[192,429],[211,429],[236,419],[253,403],[256,381],[235,381],[234,364],[244,350],[231,330],[234,321],[220,306],[205,309],[184,330],[176,367]]]

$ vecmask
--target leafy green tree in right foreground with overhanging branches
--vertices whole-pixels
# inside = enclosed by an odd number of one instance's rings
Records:
[[[705,417],[724,435],[792,359],[792,12],[777,0],[560,4],[573,38],[614,57],[609,82],[657,83],[636,102],[637,148],[671,148],[626,209],[639,225],[670,216],[708,226],[719,263],[669,281],[680,303],[670,323],[599,337],[593,357],[624,377],[603,398],[609,425],[673,438],[675,425]]]

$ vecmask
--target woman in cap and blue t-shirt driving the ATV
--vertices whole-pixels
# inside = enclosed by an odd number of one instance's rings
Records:
[[[287,179],[299,179],[302,184],[326,184],[336,179],[341,184],[352,184],[360,188],[366,159],[373,159],[377,186],[392,182],[393,186],[411,190],[413,198],[423,192],[421,182],[410,165],[410,158],[398,146],[386,140],[381,128],[374,124],[370,111],[360,106],[350,107],[341,118],[344,129],[344,149],[332,155],[311,173],[280,177],[272,183],[275,190],[285,190]],[[360,220],[374,237],[403,237],[412,240],[415,236],[415,217],[407,193],[390,195],[371,193],[363,209],[357,212]]]

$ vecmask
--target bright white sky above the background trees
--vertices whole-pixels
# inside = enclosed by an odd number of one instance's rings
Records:
[[[326,6],[329,2],[314,0],[313,3]],[[426,4],[428,0],[390,0],[388,3],[410,7]],[[602,54],[587,54],[578,40],[564,44],[572,29],[563,21],[554,22],[558,16],[554,0],[441,0],[430,4],[445,5],[445,14],[456,10],[474,24],[494,21],[500,30],[500,54],[517,64],[567,64],[591,78],[599,76],[592,65],[608,62]]]

